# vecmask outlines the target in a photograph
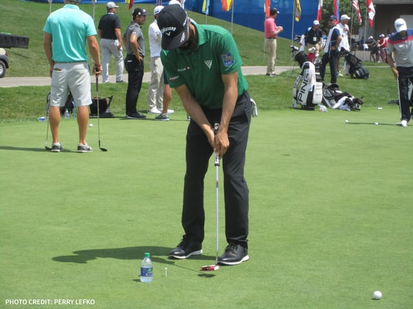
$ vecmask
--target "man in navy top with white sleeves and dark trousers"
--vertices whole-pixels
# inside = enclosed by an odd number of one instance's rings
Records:
[[[326,46],[324,47],[324,55],[321,58],[320,65],[320,76],[324,82],[324,75],[326,74],[326,65],[330,63],[330,74],[331,83],[335,84],[337,82],[337,56],[339,55],[339,46],[341,43],[341,32],[337,24],[337,17],[332,15],[328,19],[328,26],[330,27],[330,32],[328,32],[328,37],[326,41]]]

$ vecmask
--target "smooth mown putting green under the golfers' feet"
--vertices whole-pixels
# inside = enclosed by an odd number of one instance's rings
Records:
[[[208,273],[199,268],[215,261],[212,158],[204,254],[167,258],[183,233],[184,112],[170,122],[100,119],[107,152],[91,119],[87,154],[75,152],[73,119],[61,122],[58,154],[44,150],[45,122],[0,123],[0,307],[410,308],[413,126],[395,126],[390,105],[259,112],[246,162],[250,260]],[[225,246],[222,199],[220,254]],[[145,252],[150,284],[139,281]]]

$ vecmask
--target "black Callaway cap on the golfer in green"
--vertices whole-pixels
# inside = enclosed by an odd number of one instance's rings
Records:
[[[187,41],[188,15],[180,5],[165,6],[158,15],[158,26],[162,32],[162,49],[176,49]]]

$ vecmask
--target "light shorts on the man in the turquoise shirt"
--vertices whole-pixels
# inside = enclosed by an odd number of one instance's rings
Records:
[[[64,106],[69,92],[76,106],[92,104],[87,62],[56,62],[50,87],[50,106]]]

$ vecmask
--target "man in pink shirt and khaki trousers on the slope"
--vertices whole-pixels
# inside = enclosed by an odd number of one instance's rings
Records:
[[[264,34],[265,34],[265,46],[269,49],[269,58],[267,65],[266,76],[273,77],[275,56],[277,56],[277,35],[282,32],[282,27],[277,27],[275,23],[275,18],[279,14],[277,8],[272,8],[270,10],[270,16],[264,21]]]

